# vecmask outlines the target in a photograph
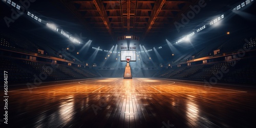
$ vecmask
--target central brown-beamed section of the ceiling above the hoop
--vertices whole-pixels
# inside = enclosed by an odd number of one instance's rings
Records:
[[[102,40],[136,35],[151,40],[172,27],[197,0],[183,1],[65,1],[60,0],[90,31]]]

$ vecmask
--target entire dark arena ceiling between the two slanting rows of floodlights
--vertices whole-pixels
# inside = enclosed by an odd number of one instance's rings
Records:
[[[113,46],[116,45],[118,37],[135,35],[143,45],[156,45],[165,42],[166,38],[170,38],[169,40],[180,38],[200,28],[202,24],[208,24],[212,17],[232,9],[237,3],[241,2],[239,0],[38,0],[31,2],[28,10],[72,35],[86,36],[97,44]],[[191,9],[200,5],[205,6],[198,12]],[[195,15],[190,13],[192,18],[189,19],[189,23],[182,24],[183,15],[187,16],[191,11]],[[6,15],[8,14],[4,14]],[[13,24],[20,23],[24,26],[23,23],[27,22],[19,21]],[[177,30],[175,23],[181,23],[184,27]],[[34,33],[33,31],[32,34]],[[43,34],[40,33],[40,36],[48,38],[51,36],[47,35],[48,32],[45,32],[46,36]]]

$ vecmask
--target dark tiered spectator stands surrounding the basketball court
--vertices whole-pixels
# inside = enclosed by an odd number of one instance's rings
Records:
[[[41,45],[40,48],[33,44],[29,40],[17,40],[7,35],[0,35],[0,48],[8,51],[15,51],[19,53],[37,53],[38,49],[47,49],[45,52],[48,54],[39,54],[38,57],[50,58],[58,57],[56,50],[51,49],[48,46]],[[190,59],[197,59],[206,56],[213,57],[213,50],[220,49],[220,53],[236,53],[243,47],[253,51],[256,47],[256,38],[248,39],[246,42],[241,40],[223,40],[217,44],[209,45],[201,50],[193,51],[188,50],[186,53],[176,56],[172,64],[172,67],[158,68],[150,67],[138,67],[135,63],[131,63],[133,77],[160,77],[169,79],[183,79],[183,80],[209,80],[212,77],[216,77],[216,74],[220,73],[222,68],[228,70],[227,73],[223,73],[221,78],[218,78],[220,82],[228,83],[244,83],[252,84],[256,83],[256,58],[253,56],[255,52],[247,53],[247,56],[243,59],[232,58],[230,60],[217,60],[209,61],[208,63],[197,63],[196,65],[187,66],[187,61]],[[21,42],[22,41],[22,42]],[[234,43],[236,42],[236,43]],[[245,45],[245,46],[244,46]],[[4,52],[2,52],[4,53]],[[194,56],[195,58],[191,58]],[[221,56],[221,54],[219,55]],[[219,57],[215,55],[214,57]],[[66,58],[66,60],[73,61],[72,56]],[[73,56],[73,58],[75,58]],[[50,61],[44,60],[29,60],[28,58],[8,57],[4,54],[0,58],[1,70],[10,71],[9,78],[12,83],[25,83],[33,82],[35,77],[39,77],[41,73],[47,75],[44,81],[52,80],[67,80],[67,79],[82,79],[93,77],[123,77],[125,62],[102,62],[101,68],[97,67],[85,67],[76,65],[68,66],[67,63],[57,63],[51,65]],[[79,61],[78,61],[79,63]],[[153,63],[153,62],[152,62]],[[151,65],[152,63],[147,63]],[[154,63],[155,65],[156,63]],[[191,63],[190,63],[191,64]],[[219,74],[220,75],[220,74]]]

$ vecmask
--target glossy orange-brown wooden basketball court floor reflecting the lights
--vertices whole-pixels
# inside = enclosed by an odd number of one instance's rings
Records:
[[[8,127],[256,126],[253,87],[96,78],[10,86],[8,90]]]

